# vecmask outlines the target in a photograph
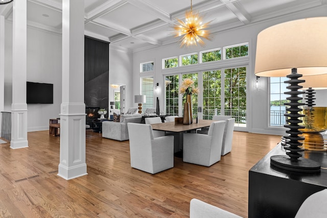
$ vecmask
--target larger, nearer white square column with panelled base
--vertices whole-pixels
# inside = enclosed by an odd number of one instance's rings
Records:
[[[87,175],[85,163],[84,1],[62,1],[62,103],[58,176]]]

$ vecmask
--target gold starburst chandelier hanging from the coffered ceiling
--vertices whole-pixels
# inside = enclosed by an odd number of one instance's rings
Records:
[[[209,22],[202,23],[202,17],[199,13],[193,12],[192,10],[192,0],[191,0],[191,10],[185,12],[185,22],[177,19],[177,24],[174,26],[175,37],[180,37],[180,47],[190,47],[192,45],[200,44],[204,46],[204,41],[202,38],[211,40],[209,36],[210,33],[206,28]]]

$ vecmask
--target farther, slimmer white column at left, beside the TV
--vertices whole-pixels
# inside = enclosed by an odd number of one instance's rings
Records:
[[[27,1],[13,2],[12,104],[10,148],[28,147],[26,104]]]

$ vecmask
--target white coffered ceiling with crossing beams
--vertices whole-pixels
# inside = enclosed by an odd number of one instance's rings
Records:
[[[14,0],[15,1],[15,0]],[[81,3],[83,0],[81,0]],[[326,5],[327,0],[193,0],[193,10],[217,33],[249,23]],[[61,33],[62,0],[28,0],[28,25]],[[178,41],[172,34],[191,0],[84,0],[85,35],[140,51]],[[0,6],[12,20],[12,3]]]

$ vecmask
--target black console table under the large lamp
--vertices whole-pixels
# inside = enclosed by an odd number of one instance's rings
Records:
[[[294,217],[310,195],[327,188],[327,169],[317,174],[302,174],[270,166],[270,156],[284,155],[278,144],[249,171],[249,218]],[[327,153],[305,151],[303,157],[327,167]]]

